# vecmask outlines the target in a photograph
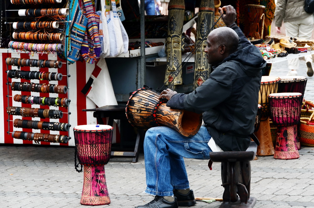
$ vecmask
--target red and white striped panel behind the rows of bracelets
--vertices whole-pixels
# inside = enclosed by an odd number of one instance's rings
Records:
[[[26,141],[26,140],[20,140],[20,139],[14,139],[12,138],[11,134],[8,134],[7,132],[12,131],[26,131],[26,132],[33,132],[33,133],[48,133],[48,134],[61,134],[61,135],[68,135],[71,137],[71,140],[69,140],[68,144],[59,144],[59,143],[49,143],[49,142],[41,142],[41,145],[65,145],[65,146],[75,146],[74,143],[74,134],[73,134],[73,127],[77,125],[86,125],[86,124],[96,124],[96,118],[93,117],[93,112],[84,112],[82,109],[89,109],[89,108],[95,108],[95,103],[91,101],[89,98],[87,98],[82,92],[82,88],[88,81],[90,75],[92,74],[95,65],[94,64],[88,64],[85,62],[77,62],[74,64],[69,65],[68,67],[68,73],[71,75],[68,80],[69,84],[67,84],[67,77],[63,76],[61,81],[49,81],[50,84],[58,84],[58,85],[67,85],[69,87],[67,94],[56,94],[56,93],[39,93],[39,92],[22,92],[22,91],[12,91],[10,88],[8,90],[7,88],[7,74],[6,70],[9,69],[18,69],[16,66],[7,66],[5,59],[7,57],[16,57],[16,58],[31,58],[31,59],[49,59],[49,60],[57,60],[59,59],[57,55],[53,54],[42,54],[42,55],[28,55],[27,53],[16,53],[12,52],[10,49],[8,52],[4,52],[7,50],[1,49],[0,56],[2,60],[2,68],[1,70],[1,76],[2,76],[2,89],[1,93],[3,96],[3,101],[0,102],[0,109],[3,109],[0,112],[0,116],[3,119],[0,119],[0,126],[2,126],[3,131],[0,133],[0,143],[1,144],[36,144],[34,141]],[[11,53],[10,53],[11,52]],[[58,72],[62,73],[63,75],[67,74],[67,65],[65,64],[65,61],[62,61],[63,65],[62,68],[36,68],[36,67],[21,67],[21,70],[27,70],[27,71],[46,71],[46,72]],[[33,83],[41,83],[45,84],[48,83],[47,80],[25,80],[25,79],[8,79],[9,82],[33,82]],[[41,105],[30,105],[30,104],[24,104],[22,102],[16,102],[13,100],[13,96],[16,94],[20,95],[31,95],[31,96],[43,96],[43,97],[66,97],[69,100],[71,100],[69,107],[54,107],[54,106],[41,106]],[[9,97],[7,97],[7,95]],[[7,114],[7,107],[8,106],[15,106],[15,107],[32,107],[32,108],[49,108],[49,109],[58,109],[61,110],[63,114],[63,118],[61,119],[49,119],[49,118],[31,118],[31,117],[23,117],[22,116],[13,116]],[[71,112],[71,114],[67,114]],[[13,127],[13,120],[14,119],[28,119],[28,120],[41,120],[41,121],[47,121],[47,122],[60,122],[60,123],[68,123],[71,125],[69,128],[69,132],[64,131],[48,131],[48,130],[41,130],[41,129],[21,129],[21,128],[15,128]],[[7,121],[7,120],[11,121]],[[113,135],[113,141],[112,143],[116,143],[120,141],[120,134],[118,131],[116,131],[117,125],[114,124],[114,135]]]

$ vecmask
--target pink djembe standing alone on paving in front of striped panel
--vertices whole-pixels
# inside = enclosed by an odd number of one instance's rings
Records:
[[[82,205],[110,204],[105,167],[111,155],[113,128],[109,125],[79,125],[73,128],[75,156],[84,165]],[[75,159],[76,163],[76,159]],[[75,169],[78,172],[82,170]]]

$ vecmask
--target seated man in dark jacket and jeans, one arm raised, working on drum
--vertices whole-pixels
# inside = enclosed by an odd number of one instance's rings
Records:
[[[203,113],[205,126],[191,137],[169,127],[146,132],[145,193],[155,198],[137,208],[195,205],[183,157],[208,160],[211,151],[245,151],[250,144],[266,62],[234,23],[236,10],[229,5],[219,12],[225,12],[222,18],[227,27],[208,35],[204,52],[214,69],[209,79],[189,94],[167,89],[160,95],[169,100],[168,107]]]

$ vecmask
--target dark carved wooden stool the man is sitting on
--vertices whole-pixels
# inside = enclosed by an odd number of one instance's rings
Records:
[[[221,162],[222,186],[225,188],[223,203],[219,208],[254,207],[256,198],[250,198],[251,164],[256,155],[257,144],[251,142],[245,152],[210,152],[210,160]],[[239,195],[240,199],[238,199]]]

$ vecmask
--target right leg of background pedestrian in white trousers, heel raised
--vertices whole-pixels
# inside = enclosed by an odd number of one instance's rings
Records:
[[[299,39],[311,40],[312,33],[314,27],[314,17],[309,16],[307,18],[302,19],[302,23],[299,27]],[[307,66],[307,75],[309,77],[313,76],[313,68],[312,68],[312,56],[305,56],[306,66]]]

